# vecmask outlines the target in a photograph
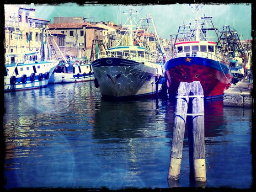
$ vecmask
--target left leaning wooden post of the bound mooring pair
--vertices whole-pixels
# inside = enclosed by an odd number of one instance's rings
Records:
[[[181,158],[183,149],[183,139],[187,118],[187,107],[189,101],[189,92],[192,84],[181,82],[176,96],[176,110],[173,126],[170,165],[168,171],[168,180],[177,181],[180,177]]]

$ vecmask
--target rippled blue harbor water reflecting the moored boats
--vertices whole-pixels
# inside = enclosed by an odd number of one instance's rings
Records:
[[[106,101],[93,82],[5,93],[5,188],[168,188],[175,101]],[[251,108],[205,101],[205,187],[251,188]],[[176,187],[189,180],[187,128]]]

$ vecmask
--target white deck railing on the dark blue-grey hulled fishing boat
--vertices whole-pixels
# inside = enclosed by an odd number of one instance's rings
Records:
[[[151,62],[151,63],[157,63],[157,64],[164,64],[163,58],[161,56],[155,57],[149,54],[135,54],[135,53],[128,53],[125,51],[118,51],[122,53],[122,55],[117,55],[113,53],[106,53],[106,51],[101,51],[99,53],[96,53],[94,56],[94,60],[101,59],[101,58],[122,58],[122,59],[128,59],[133,60],[139,63],[143,62]]]

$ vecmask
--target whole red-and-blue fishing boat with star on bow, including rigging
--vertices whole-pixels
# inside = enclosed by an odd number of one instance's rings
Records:
[[[169,96],[176,96],[181,81],[200,81],[205,99],[222,97],[229,88],[232,75],[228,53],[221,41],[211,41],[215,32],[212,17],[199,16],[202,6],[195,5],[194,22],[179,26],[171,58],[165,63],[165,78]]]

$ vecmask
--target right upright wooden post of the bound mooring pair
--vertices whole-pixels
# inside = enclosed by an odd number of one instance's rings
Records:
[[[204,104],[203,87],[200,81],[194,81],[189,100],[188,139],[191,176],[196,182],[206,182],[205,148],[204,148]]]

